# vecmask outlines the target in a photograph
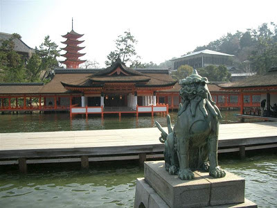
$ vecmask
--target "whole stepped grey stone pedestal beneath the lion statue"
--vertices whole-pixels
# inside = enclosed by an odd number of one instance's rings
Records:
[[[169,175],[164,161],[145,162],[138,178],[134,207],[257,207],[244,199],[245,181],[226,172],[222,178],[195,171],[194,180]]]

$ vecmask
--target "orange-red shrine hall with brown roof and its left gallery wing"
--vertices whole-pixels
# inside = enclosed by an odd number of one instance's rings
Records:
[[[168,69],[126,67],[119,59],[106,69],[55,69],[50,83],[0,84],[0,111],[69,111],[74,114],[168,112],[157,92],[172,89]],[[172,96],[173,98],[173,96]],[[175,105],[179,104],[179,94]]]

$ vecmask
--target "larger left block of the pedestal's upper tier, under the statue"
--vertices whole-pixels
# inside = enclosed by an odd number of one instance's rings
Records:
[[[206,207],[211,183],[195,174],[194,180],[180,180],[169,175],[164,161],[145,162],[145,180],[170,207]],[[146,206],[145,206],[146,207]]]

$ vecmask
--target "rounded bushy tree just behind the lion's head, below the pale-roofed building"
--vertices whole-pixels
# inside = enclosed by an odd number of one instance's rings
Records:
[[[224,65],[219,67],[209,65],[204,68],[197,69],[199,75],[208,78],[211,82],[228,82],[231,78],[231,73]]]

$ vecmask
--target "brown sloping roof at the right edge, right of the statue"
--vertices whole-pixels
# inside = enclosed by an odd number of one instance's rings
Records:
[[[277,87],[277,69],[271,68],[264,75],[250,76],[237,83],[218,84],[222,88]]]

